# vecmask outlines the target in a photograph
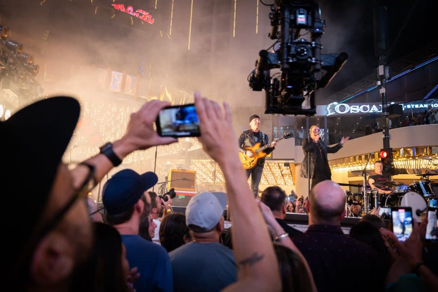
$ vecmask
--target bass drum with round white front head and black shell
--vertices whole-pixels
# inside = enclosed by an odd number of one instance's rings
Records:
[[[427,208],[427,202],[419,193],[406,192],[406,193],[391,193],[385,200],[385,207],[411,207],[412,217],[417,219],[417,222],[421,222],[421,218],[417,215],[417,211],[424,212]]]

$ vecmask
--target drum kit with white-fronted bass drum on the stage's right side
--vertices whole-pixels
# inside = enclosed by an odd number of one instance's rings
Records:
[[[438,173],[417,174],[417,176],[421,177],[421,180],[409,185],[391,181],[373,183],[376,187],[381,189],[389,187],[396,189],[390,194],[379,193],[377,189],[370,189],[369,185],[367,185],[368,188],[362,193],[351,194],[347,192],[347,216],[363,216],[368,214],[374,208],[378,207],[391,208],[398,206],[409,206],[412,208],[413,217],[416,218],[417,221],[421,221],[420,215],[426,211],[429,200],[437,198],[431,187],[431,181],[429,179],[430,176],[437,175]],[[363,187],[362,184],[339,184]],[[358,214],[359,209],[362,210],[361,214]]]

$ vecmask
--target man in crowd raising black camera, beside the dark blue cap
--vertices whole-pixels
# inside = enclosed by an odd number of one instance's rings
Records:
[[[164,193],[164,196],[157,195],[157,193],[149,191],[150,201],[151,201],[151,210],[150,214],[152,216],[153,222],[157,227],[155,228],[154,237],[152,238],[152,242],[160,243],[160,225],[161,221],[167,214],[171,214],[172,208],[172,199],[175,198],[176,193],[175,189],[171,188],[168,192]],[[161,218],[160,220],[158,218]]]

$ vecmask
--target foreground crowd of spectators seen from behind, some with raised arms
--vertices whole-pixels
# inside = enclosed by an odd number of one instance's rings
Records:
[[[437,255],[424,243],[427,219],[414,224],[406,242],[379,225],[382,220],[376,215],[365,216],[345,235],[340,225],[346,215],[344,191],[322,180],[308,200],[294,200],[295,208],[303,205],[309,214],[309,228],[304,233],[292,228],[284,221],[291,200],[283,189],[268,187],[260,200],[254,199],[238,159],[229,106],[221,108],[199,93],[200,141],[223,172],[232,227],[225,230],[226,204],[217,194],[197,194],[185,214],[176,214],[171,201],[148,192],[158,181],[156,174],[131,169],[105,183],[103,219],[88,193],[110,169],[133,151],[177,142],[158,136],[153,128],[168,105],[147,102],[131,115],[120,140],[73,170],[61,159],[79,117],[75,99],[44,99],[0,122],[7,141],[1,150],[8,154],[5,165],[10,165],[0,170],[8,194],[2,212],[9,236],[3,245],[4,287],[81,292],[437,291]],[[18,177],[26,179],[19,187]],[[13,208],[16,196],[24,209],[19,216]],[[346,274],[350,265],[361,281]]]

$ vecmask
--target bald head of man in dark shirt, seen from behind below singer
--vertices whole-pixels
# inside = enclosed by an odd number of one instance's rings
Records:
[[[345,193],[339,184],[332,181],[316,184],[311,189],[309,198],[312,220],[328,224],[340,222],[345,202]]]

